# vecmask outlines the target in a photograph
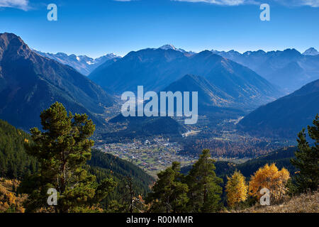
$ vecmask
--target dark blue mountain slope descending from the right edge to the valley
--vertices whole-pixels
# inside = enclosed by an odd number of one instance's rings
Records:
[[[296,138],[315,114],[319,114],[319,79],[252,111],[237,126],[252,135]]]

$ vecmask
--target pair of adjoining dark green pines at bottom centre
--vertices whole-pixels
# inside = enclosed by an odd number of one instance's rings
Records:
[[[203,150],[186,177],[180,173],[178,162],[159,172],[159,179],[147,196],[152,212],[203,212],[222,208],[220,194],[223,180],[216,177],[214,160],[209,150]]]

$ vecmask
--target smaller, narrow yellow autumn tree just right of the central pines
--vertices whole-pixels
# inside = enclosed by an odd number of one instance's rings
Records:
[[[227,177],[227,179],[227,203],[228,206],[234,207],[235,204],[247,199],[248,185],[245,182],[245,177],[239,171],[235,171],[232,177]]]

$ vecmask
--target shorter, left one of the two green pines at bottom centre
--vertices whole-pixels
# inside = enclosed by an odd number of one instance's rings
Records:
[[[188,187],[183,183],[184,176],[180,173],[179,162],[173,162],[172,167],[159,172],[158,180],[147,196],[152,212],[181,213],[186,211]]]

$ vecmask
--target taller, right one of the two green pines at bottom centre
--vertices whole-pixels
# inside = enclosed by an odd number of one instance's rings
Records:
[[[189,186],[189,206],[193,212],[215,212],[220,209],[222,179],[216,177],[216,169],[208,149],[204,149],[198,161],[186,177]]]

